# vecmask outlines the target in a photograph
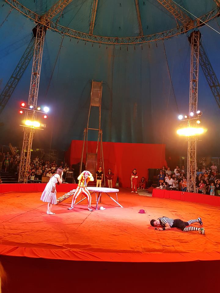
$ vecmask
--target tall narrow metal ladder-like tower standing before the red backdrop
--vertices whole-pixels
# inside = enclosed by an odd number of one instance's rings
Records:
[[[82,172],[82,161],[83,161],[83,154],[86,142],[86,170],[90,171],[92,175],[95,177],[97,171],[97,164],[98,164],[98,147],[100,144],[100,161],[99,164],[102,167],[103,172],[103,182],[105,185],[105,168],[104,168],[104,158],[103,158],[103,147],[102,147],[102,129],[101,129],[101,98],[102,98],[102,81],[94,81],[92,80],[91,86],[91,94],[90,94],[90,108],[89,108],[89,115],[88,115],[88,122],[87,127],[84,129],[84,138],[83,138],[83,146],[82,146],[82,155],[80,161],[80,169],[79,174]],[[97,128],[90,128],[90,114],[93,107],[99,108],[99,122]],[[88,132],[89,131],[96,131],[98,132],[97,136],[97,147],[95,153],[88,152]]]

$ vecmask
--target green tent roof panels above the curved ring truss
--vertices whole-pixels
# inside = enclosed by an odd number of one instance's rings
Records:
[[[57,0],[20,0],[19,2],[35,13],[43,15]],[[176,0],[175,2],[198,18],[217,6],[213,0]],[[73,0],[53,20],[58,20],[58,24],[62,26],[89,33],[92,8],[93,0]],[[144,35],[156,34],[177,27],[174,16],[156,0],[139,1],[139,9]],[[185,12],[185,14],[188,14],[193,20],[195,19],[189,13]],[[135,1],[99,0],[93,34],[106,37],[138,36]]]

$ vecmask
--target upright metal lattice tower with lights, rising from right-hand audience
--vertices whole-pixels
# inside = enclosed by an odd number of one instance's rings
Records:
[[[199,44],[200,32],[193,31],[189,37],[191,45],[191,64],[190,64],[190,92],[189,92],[189,127],[196,127],[196,120],[190,118],[190,113],[197,112],[198,103],[198,77],[199,77]],[[196,161],[197,161],[197,141],[198,136],[189,136],[187,154],[187,191],[196,190]]]

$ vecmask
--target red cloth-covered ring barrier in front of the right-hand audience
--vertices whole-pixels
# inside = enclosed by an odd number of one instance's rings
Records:
[[[152,196],[160,198],[178,199],[181,201],[200,202],[203,204],[220,206],[220,197],[211,196],[208,194],[154,189]]]

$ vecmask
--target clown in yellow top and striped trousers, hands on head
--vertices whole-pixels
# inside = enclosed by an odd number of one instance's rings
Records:
[[[80,194],[84,194],[88,199],[88,210],[90,212],[92,212],[93,211],[91,208],[92,197],[89,193],[89,190],[87,189],[87,184],[89,183],[89,181],[94,181],[93,175],[89,171],[83,171],[77,179],[79,180],[79,183],[78,183],[76,191],[73,195],[71,208],[68,208],[68,210],[72,210],[74,208],[74,204],[75,204],[77,197]]]

